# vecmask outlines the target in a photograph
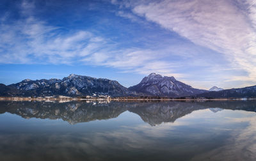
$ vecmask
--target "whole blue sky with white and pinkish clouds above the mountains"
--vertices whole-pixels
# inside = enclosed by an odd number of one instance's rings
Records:
[[[256,85],[256,0],[1,0],[0,83],[80,74]]]

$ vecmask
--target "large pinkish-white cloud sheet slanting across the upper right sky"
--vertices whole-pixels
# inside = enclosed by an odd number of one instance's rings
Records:
[[[223,53],[233,68],[243,68],[250,80],[256,79],[255,1],[132,2],[118,4],[197,45]]]

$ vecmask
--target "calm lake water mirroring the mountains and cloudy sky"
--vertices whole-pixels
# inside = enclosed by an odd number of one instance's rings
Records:
[[[256,160],[256,101],[1,101],[0,160]]]

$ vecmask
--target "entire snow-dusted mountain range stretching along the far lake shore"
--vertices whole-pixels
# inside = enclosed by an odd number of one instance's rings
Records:
[[[256,86],[223,90],[212,87],[210,90],[193,88],[176,80],[173,76],[161,76],[151,73],[138,85],[126,88],[118,81],[90,76],[70,74],[60,79],[23,80],[12,85],[0,84],[0,96],[6,97],[45,97],[52,95],[96,96],[154,96],[154,97],[256,97]]]

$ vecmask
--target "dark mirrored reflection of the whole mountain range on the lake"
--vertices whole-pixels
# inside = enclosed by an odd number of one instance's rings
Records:
[[[22,118],[61,118],[68,123],[91,122],[116,118],[125,111],[136,113],[144,122],[154,126],[175,122],[177,118],[198,109],[216,113],[222,109],[256,111],[255,101],[206,101],[206,102],[17,102],[0,101],[0,114],[12,113]]]

